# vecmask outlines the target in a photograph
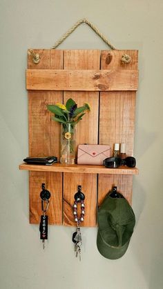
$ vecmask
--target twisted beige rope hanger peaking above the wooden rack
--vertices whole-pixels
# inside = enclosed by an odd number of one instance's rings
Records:
[[[106,37],[104,37],[104,35],[103,35],[101,32],[99,32],[99,30],[98,30],[95,26],[93,26],[93,24],[90,23],[87,19],[81,19],[81,20],[77,21],[77,23],[75,23],[75,25],[74,25],[72,28],[70,28],[70,29],[55,43],[54,46],[52,46],[52,49],[57,48],[57,46],[59,46],[59,44],[61,44],[81,23],[86,23],[86,24],[88,24],[88,26],[90,26],[90,28],[92,28],[92,29],[97,33],[97,35],[99,35],[99,37],[101,37],[102,40],[103,40],[106,44],[108,44],[108,46],[109,46],[111,49],[113,49],[113,50],[116,49],[116,48],[108,41],[108,39],[106,39]]]

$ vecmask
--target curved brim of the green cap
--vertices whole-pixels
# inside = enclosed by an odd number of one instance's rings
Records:
[[[106,243],[106,241],[104,241],[104,239],[102,238],[102,232],[98,230],[97,248],[100,254],[107,259],[114,260],[114,259],[119,259],[120,257],[122,257],[125,254],[129,243],[130,243],[130,239],[122,247],[113,247],[109,245],[108,243]]]

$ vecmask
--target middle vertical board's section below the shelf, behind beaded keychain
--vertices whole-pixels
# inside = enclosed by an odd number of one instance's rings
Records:
[[[74,195],[77,192],[77,186],[81,185],[81,191],[85,195],[85,218],[81,226],[93,227],[96,223],[96,205],[97,205],[97,176],[88,174],[70,174],[64,177],[64,225],[76,226],[73,215]],[[68,192],[68,193],[67,193]],[[80,206],[77,210],[78,217],[81,214]]]

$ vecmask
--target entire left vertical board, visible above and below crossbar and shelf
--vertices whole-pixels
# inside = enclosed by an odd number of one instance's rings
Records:
[[[28,56],[28,68],[33,69],[61,69],[63,68],[62,50],[35,50],[40,54],[40,62],[36,65]],[[51,120],[51,113],[46,105],[61,102],[62,92],[28,91],[28,130],[29,156],[59,157],[59,123]],[[62,174],[52,172],[30,172],[29,201],[30,223],[39,223],[41,215],[41,183],[51,192],[48,210],[49,223],[61,225],[62,222]]]

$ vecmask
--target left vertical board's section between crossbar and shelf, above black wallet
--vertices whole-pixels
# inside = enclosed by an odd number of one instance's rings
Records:
[[[52,121],[48,104],[62,102],[62,93],[53,91],[28,92],[29,156],[59,158],[60,125]]]

